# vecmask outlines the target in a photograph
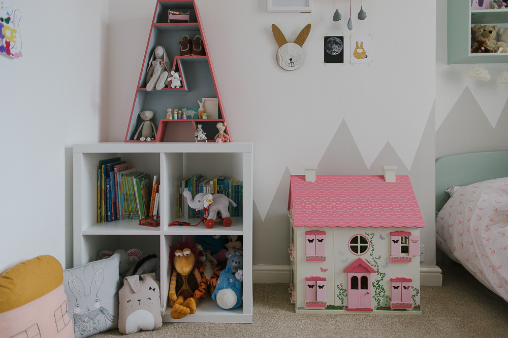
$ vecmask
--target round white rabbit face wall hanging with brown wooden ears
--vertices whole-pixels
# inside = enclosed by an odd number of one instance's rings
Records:
[[[294,43],[288,42],[275,24],[272,24],[272,33],[279,45],[276,54],[277,64],[284,70],[298,69],[303,64],[304,54],[302,46],[305,40],[307,40],[307,36],[309,36],[310,23],[303,27]]]

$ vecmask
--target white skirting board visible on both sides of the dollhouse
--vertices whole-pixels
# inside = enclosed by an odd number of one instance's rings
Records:
[[[289,283],[289,265],[258,264],[252,267],[253,283]],[[420,267],[420,285],[441,286],[442,275],[438,266]]]

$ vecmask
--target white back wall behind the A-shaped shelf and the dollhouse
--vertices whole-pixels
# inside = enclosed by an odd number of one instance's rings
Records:
[[[367,19],[359,21],[361,1],[353,0],[352,31],[346,27],[348,2],[339,2],[339,22],[332,21],[336,4],[331,1],[314,1],[312,13],[267,13],[264,0],[196,3],[231,135],[235,141],[254,143],[253,263],[289,264],[286,174],[302,174],[304,165],[319,164],[336,146],[332,140],[345,122],[352,137],[339,146],[358,148],[361,156],[351,164],[355,173],[380,174],[376,161],[397,161],[399,174],[411,175],[427,221],[424,265],[434,266],[434,187],[428,182],[434,179],[435,158],[435,2],[364,2]],[[123,141],[155,2],[109,4],[108,140]],[[303,46],[305,62],[298,70],[285,71],[276,64],[272,23],[288,41],[312,24]],[[372,35],[372,65],[324,64],[323,37],[344,35],[348,61],[352,34]],[[424,137],[429,121],[431,137]],[[383,153],[387,144],[393,149],[390,155]],[[426,152],[417,159],[419,147]],[[318,173],[334,169],[344,173],[339,167],[320,167]]]

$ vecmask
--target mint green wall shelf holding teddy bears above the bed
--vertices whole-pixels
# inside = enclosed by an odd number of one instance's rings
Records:
[[[448,0],[448,64],[508,63],[508,53],[471,54],[471,25],[508,26],[508,9],[471,10],[470,0]]]

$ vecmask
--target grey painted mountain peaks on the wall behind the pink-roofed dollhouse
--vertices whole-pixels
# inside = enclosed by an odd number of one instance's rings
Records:
[[[434,215],[434,107],[429,116],[420,145],[415,156],[411,172],[403,164],[390,142],[387,142],[382,151],[376,157],[370,168],[367,168],[360,151],[356,145],[353,135],[343,120],[330,144],[323,154],[323,158],[317,166],[316,173],[319,175],[380,175],[379,166],[395,165],[398,167],[397,174],[409,175],[415,187],[415,193],[424,214],[426,224],[430,229],[432,239],[429,249],[432,250],[434,241],[433,215]],[[302,174],[302,171],[295,174]],[[263,243],[277,243],[276,246],[267,247],[266,250],[258,250],[253,253],[253,264],[288,265],[289,264],[289,219],[288,219],[288,197],[289,180],[292,173],[286,167],[272,203],[264,219],[260,212],[253,205],[253,242],[257,248],[263,248]],[[431,187],[429,189],[429,182]],[[417,187],[418,190],[417,191]],[[429,216],[430,215],[430,216]],[[432,258],[432,255],[430,255]]]

